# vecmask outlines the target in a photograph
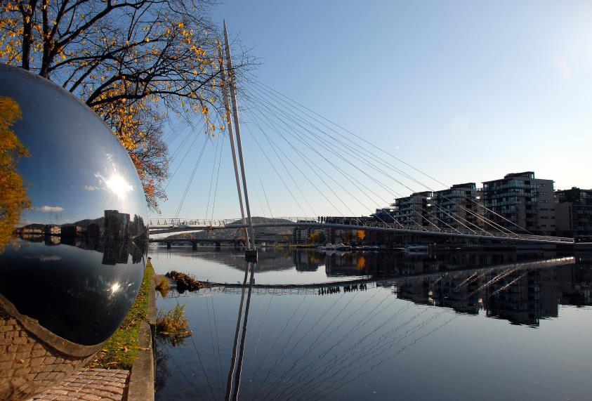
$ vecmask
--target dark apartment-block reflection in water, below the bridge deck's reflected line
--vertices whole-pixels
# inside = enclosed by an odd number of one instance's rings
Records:
[[[511,256],[508,255],[508,256]],[[498,257],[493,256],[493,259]],[[437,264],[437,263],[435,263]],[[558,305],[592,305],[589,264],[516,261],[505,268],[454,271],[417,277],[395,284],[397,297],[423,305],[452,308],[457,313],[508,320],[513,324],[539,325],[558,316]],[[424,266],[431,268],[431,266]],[[426,269],[415,270],[415,274]],[[427,270],[429,271],[429,270]],[[433,270],[432,270],[433,271]],[[411,272],[407,270],[407,274]]]

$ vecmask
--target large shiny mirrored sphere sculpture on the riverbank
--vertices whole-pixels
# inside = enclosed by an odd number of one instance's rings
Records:
[[[0,65],[0,107],[0,400],[20,400],[76,371],[124,320],[147,211],[126,150],[72,94]]]

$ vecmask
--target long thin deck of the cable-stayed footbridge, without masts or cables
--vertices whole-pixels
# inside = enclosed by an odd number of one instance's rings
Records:
[[[240,218],[225,220],[199,220],[183,218],[154,218],[149,220],[150,234],[165,234],[170,232],[208,231],[232,228],[246,228],[246,223],[237,223]],[[574,244],[573,238],[550,237],[544,235],[516,234],[514,232],[490,232],[486,230],[461,230],[451,228],[437,228],[422,225],[400,225],[397,223],[378,223],[364,218],[331,218],[327,223],[311,217],[281,217],[269,218],[265,223],[253,223],[258,227],[301,227],[301,228],[329,228],[336,230],[369,230],[393,232],[399,235],[421,235],[439,237],[461,237],[471,239],[492,239],[501,242],[529,242],[538,244]]]

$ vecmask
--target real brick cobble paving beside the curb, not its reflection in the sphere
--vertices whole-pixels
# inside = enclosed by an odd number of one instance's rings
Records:
[[[128,383],[127,370],[84,369],[29,401],[127,400]]]

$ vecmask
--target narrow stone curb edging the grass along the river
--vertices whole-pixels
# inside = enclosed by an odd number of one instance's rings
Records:
[[[156,293],[154,277],[148,293],[148,322],[140,325],[140,353],[133,362],[129,375],[127,399],[129,401],[154,400],[154,374],[156,372],[156,346],[154,343],[154,325],[156,324]]]

